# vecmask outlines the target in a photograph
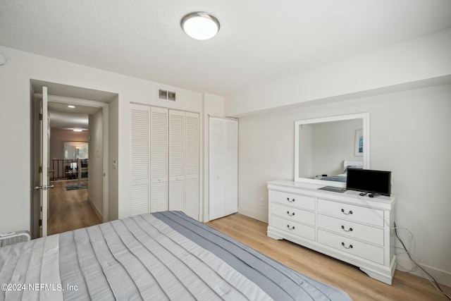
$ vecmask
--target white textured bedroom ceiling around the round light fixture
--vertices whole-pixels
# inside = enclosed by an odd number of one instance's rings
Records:
[[[214,14],[213,39],[180,20]],[[450,0],[0,0],[0,44],[228,96],[451,27]]]

